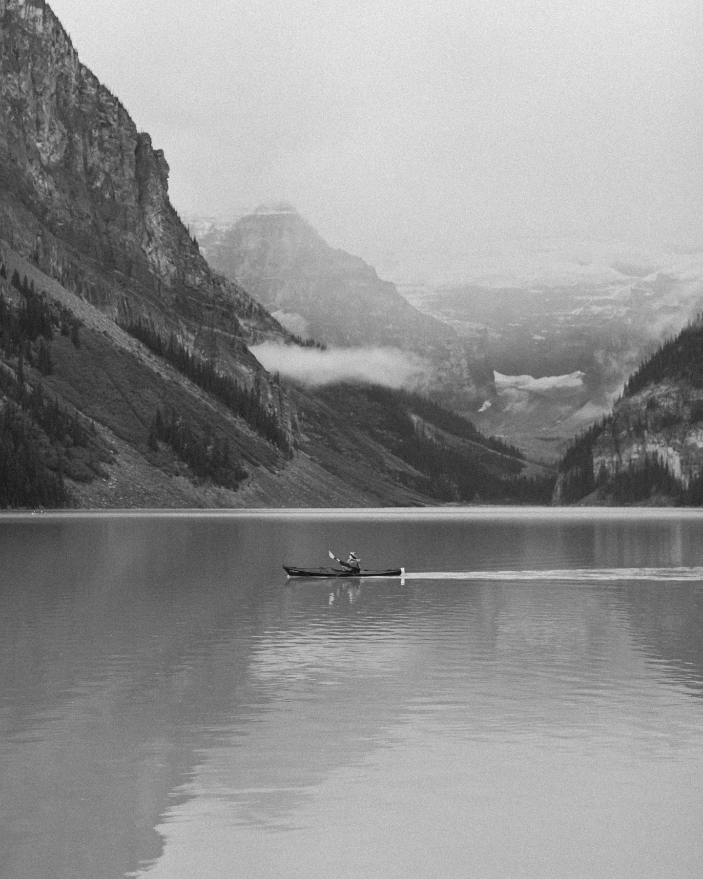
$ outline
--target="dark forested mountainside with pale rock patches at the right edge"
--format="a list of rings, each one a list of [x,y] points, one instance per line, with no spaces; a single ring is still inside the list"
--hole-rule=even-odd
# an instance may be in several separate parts
[[[703,504],[703,316],[641,364],[559,470],[557,503]]]

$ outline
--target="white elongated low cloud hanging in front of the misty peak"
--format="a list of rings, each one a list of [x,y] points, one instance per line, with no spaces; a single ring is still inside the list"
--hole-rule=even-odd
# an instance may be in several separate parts
[[[308,385],[358,381],[389,388],[417,388],[424,384],[431,367],[416,354],[398,348],[301,348],[265,342],[253,345],[251,353],[270,373]]]

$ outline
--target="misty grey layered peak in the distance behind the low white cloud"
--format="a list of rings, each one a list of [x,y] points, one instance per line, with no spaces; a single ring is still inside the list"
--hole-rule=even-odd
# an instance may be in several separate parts
[[[413,308],[363,259],[331,247],[294,207],[259,207],[231,224],[195,218],[191,228],[214,269],[301,337],[417,353],[432,367],[424,389],[460,410],[475,408],[480,388],[491,383],[475,345]]]

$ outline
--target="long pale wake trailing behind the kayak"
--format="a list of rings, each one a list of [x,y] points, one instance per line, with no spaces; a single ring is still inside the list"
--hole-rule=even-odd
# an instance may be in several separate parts
[[[561,570],[425,570],[406,571],[404,580],[559,580],[592,583],[609,580],[701,582],[703,568],[563,568]]]

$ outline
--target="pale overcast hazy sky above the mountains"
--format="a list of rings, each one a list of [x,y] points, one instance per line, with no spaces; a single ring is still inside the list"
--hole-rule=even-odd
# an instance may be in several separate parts
[[[51,0],[181,214],[330,243],[703,245],[700,0]]]

